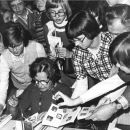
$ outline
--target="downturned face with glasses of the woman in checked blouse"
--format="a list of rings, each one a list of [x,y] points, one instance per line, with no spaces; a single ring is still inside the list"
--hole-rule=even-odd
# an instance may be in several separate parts
[[[85,35],[80,35],[73,39],[76,46],[80,46],[83,49],[91,47],[92,40],[88,39]]]

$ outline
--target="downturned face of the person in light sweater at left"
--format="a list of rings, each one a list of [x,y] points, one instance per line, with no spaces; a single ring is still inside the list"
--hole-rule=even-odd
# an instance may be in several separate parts
[[[13,55],[20,56],[23,53],[24,44],[23,42],[13,43],[8,47],[8,49]]]

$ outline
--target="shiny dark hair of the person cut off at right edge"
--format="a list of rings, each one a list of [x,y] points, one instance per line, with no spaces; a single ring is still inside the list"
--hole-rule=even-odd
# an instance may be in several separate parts
[[[109,55],[113,64],[130,68],[130,32],[118,35],[110,45]]]

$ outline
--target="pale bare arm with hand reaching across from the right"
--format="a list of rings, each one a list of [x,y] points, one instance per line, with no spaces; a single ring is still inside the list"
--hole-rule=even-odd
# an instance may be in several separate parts
[[[62,104],[59,104],[60,106],[63,105],[74,106],[88,102],[94,98],[106,94],[107,92],[118,88],[122,84],[124,84],[124,81],[121,80],[118,75],[114,75],[111,78],[99,82],[98,84],[93,86],[91,89],[87,90],[84,94],[82,94],[76,99],[70,99],[62,93],[57,93],[56,96],[58,96],[58,98],[59,97],[63,98],[64,100]]]

